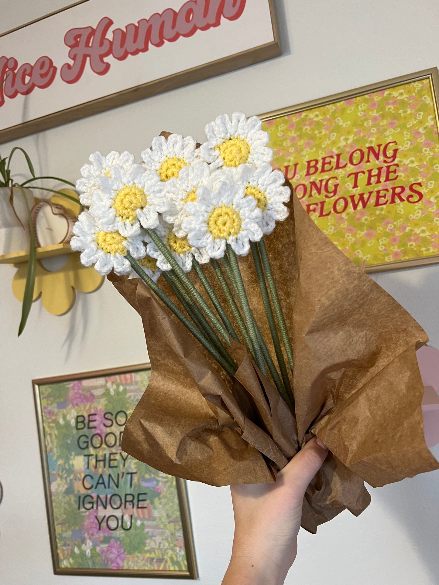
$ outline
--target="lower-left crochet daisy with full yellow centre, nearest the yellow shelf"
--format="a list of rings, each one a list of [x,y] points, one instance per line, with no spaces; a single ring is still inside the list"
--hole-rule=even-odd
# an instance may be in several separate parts
[[[73,226],[74,237],[70,240],[72,250],[81,252],[84,266],[95,265],[99,274],[129,274],[131,264],[126,259],[129,253],[133,258],[145,256],[146,250],[140,236],[124,237],[118,231],[104,232],[88,211],[83,211]]]

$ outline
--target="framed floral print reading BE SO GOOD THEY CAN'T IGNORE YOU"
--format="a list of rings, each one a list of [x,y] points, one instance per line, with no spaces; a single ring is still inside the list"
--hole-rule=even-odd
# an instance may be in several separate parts
[[[149,364],[33,380],[55,574],[196,579],[186,486],[121,449]]]

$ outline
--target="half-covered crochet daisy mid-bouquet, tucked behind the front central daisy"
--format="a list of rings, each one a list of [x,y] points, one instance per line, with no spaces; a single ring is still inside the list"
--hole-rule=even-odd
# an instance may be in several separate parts
[[[163,213],[163,218],[168,223],[173,223],[174,233],[179,238],[186,236],[181,228],[181,222],[186,214],[184,205],[189,201],[197,201],[197,191],[202,187],[215,188],[224,181],[224,173],[221,169],[212,172],[210,166],[205,163],[197,163],[181,169],[179,178],[169,181],[169,190],[166,198],[168,209]]]

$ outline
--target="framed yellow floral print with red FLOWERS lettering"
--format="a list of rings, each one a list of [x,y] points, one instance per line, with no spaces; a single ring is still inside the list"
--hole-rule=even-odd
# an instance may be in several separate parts
[[[260,116],[273,164],[366,272],[439,262],[437,68]]]

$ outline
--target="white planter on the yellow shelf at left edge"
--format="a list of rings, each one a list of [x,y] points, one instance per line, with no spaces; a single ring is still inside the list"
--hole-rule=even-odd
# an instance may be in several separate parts
[[[32,209],[35,205],[33,193],[29,189],[25,189],[25,194],[28,199],[29,209]],[[11,189],[8,187],[0,188],[0,256],[29,250],[29,219],[22,191],[14,188],[13,207],[25,229],[22,228],[16,218],[9,203],[9,197],[11,197]]]

